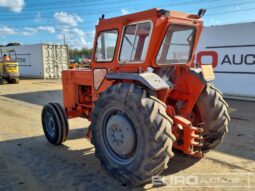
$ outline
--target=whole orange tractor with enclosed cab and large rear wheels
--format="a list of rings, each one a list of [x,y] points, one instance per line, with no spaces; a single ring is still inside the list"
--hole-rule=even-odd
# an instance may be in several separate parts
[[[63,143],[67,119],[87,118],[102,165],[133,185],[166,169],[173,148],[194,157],[215,148],[230,117],[211,83],[212,66],[194,64],[204,13],[151,9],[102,16],[90,68],[63,71],[64,108],[43,108],[47,140]]]

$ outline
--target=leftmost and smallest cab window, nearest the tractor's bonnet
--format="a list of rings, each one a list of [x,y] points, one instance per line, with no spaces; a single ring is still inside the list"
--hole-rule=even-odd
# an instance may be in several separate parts
[[[118,38],[117,30],[102,31],[97,37],[96,62],[111,62]]]

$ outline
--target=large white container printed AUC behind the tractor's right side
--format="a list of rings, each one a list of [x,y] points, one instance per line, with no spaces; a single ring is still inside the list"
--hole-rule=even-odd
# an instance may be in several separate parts
[[[218,55],[215,84],[227,96],[255,98],[255,23],[205,27],[198,51]],[[211,63],[212,57],[202,62]]]

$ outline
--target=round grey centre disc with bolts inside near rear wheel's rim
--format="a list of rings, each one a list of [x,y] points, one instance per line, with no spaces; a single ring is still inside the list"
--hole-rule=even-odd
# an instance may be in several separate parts
[[[111,149],[119,157],[127,159],[132,156],[136,148],[135,127],[125,114],[117,113],[109,118],[106,138]]]

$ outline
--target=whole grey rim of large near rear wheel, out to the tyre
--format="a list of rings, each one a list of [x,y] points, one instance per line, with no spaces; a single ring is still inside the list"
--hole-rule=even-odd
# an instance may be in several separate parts
[[[138,148],[135,126],[128,115],[120,110],[111,110],[104,117],[104,140],[107,151],[120,164],[133,161]]]

